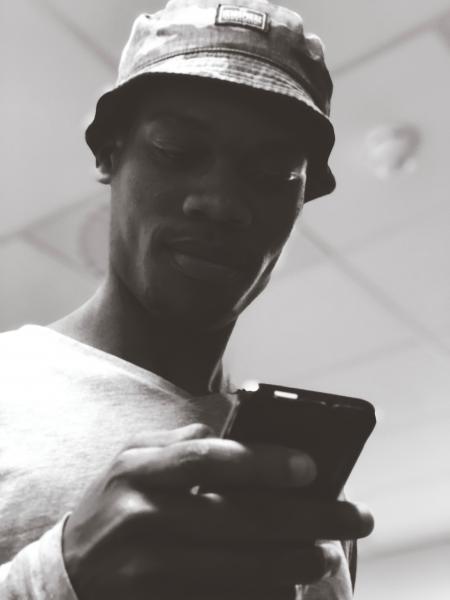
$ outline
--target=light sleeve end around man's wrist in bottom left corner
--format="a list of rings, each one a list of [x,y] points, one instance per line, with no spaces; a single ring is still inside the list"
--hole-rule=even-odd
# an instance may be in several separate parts
[[[0,565],[2,600],[78,600],[62,554],[62,531],[68,516]]]

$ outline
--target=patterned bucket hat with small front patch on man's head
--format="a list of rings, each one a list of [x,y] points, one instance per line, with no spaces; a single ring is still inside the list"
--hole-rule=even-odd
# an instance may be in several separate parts
[[[170,0],[162,10],[140,15],[116,84],[100,97],[86,129],[94,154],[114,129],[124,99],[142,89],[136,83],[157,85],[161,74],[217,79],[297,102],[311,138],[305,201],[334,190],[328,166],[335,140],[329,118],[333,84],[323,44],[305,33],[299,14],[267,0]]]

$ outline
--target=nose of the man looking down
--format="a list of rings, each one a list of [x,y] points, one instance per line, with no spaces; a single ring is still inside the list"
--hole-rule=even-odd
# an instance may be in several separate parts
[[[252,222],[252,213],[245,201],[243,187],[235,173],[216,165],[186,196],[183,212],[194,219],[248,227]]]

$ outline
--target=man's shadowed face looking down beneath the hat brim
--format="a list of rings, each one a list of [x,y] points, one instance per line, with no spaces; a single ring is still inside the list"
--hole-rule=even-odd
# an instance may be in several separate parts
[[[151,314],[211,330],[266,286],[303,204],[305,140],[283,99],[154,85],[111,167],[111,266]]]

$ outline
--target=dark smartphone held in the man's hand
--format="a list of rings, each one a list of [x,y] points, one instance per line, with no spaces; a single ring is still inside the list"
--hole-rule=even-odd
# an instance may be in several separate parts
[[[237,392],[223,437],[308,453],[317,477],[301,489],[302,497],[335,500],[375,423],[367,400],[261,383]]]

